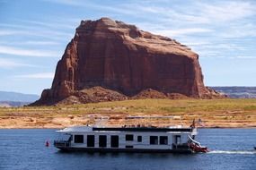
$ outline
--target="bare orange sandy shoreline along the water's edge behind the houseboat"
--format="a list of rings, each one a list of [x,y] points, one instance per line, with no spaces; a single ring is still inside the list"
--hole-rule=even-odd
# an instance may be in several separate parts
[[[93,119],[93,121],[88,118],[90,115],[62,115],[62,116],[0,116],[0,129],[63,129],[70,126],[84,126],[87,124],[96,124],[97,121]],[[93,115],[93,116],[110,116],[109,122],[104,123],[104,126],[123,126],[123,125],[137,125],[143,124],[145,126],[169,126],[171,125],[182,125],[183,127],[190,127],[190,124],[193,119],[185,119],[182,120],[174,120],[170,121],[162,121],[155,120],[151,122],[147,122],[147,120],[143,120],[137,122],[132,119],[130,121],[125,121],[125,117],[127,115]],[[154,116],[162,116],[162,115],[154,115]],[[164,116],[164,115],[163,115]],[[200,116],[202,118],[202,116]],[[202,118],[203,125],[197,125],[198,128],[204,129],[253,129],[256,128],[256,122],[246,122],[246,121],[225,121],[225,120],[207,120],[205,117]],[[197,122],[197,119],[196,119]]]

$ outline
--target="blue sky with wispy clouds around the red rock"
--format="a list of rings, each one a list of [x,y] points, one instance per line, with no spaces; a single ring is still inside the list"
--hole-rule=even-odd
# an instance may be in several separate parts
[[[207,86],[256,86],[256,1],[0,0],[0,90],[50,88],[80,21],[102,17],[189,46]]]

